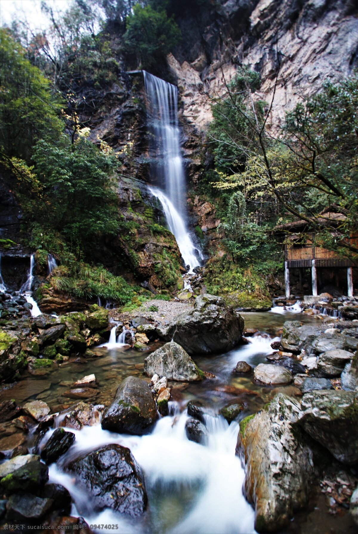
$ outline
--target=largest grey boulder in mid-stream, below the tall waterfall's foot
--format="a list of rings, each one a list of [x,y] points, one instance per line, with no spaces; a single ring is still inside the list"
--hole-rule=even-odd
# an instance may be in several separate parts
[[[214,295],[199,295],[194,307],[157,328],[165,341],[175,341],[188,354],[212,354],[234,348],[242,337],[244,319]]]

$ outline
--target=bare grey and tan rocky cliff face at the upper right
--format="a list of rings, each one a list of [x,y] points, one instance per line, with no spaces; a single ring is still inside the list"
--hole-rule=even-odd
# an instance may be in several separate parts
[[[355,0],[228,0],[179,21],[183,43],[169,54],[183,117],[199,130],[212,119],[211,99],[238,65],[261,74],[257,98],[270,101],[279,66],[273,120],[302,98],[358,65]]]

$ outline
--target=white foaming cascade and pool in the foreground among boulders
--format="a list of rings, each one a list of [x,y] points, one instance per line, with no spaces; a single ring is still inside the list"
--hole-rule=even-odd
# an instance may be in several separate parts
[[[170,534],[250,534],[254,532],[254,512],[246,502],[242,485],[244,469],[237,456],[235,446],[239,425],[229,426],[222,417],[212,417],[207,421],[208,444],[199,445],[189,441],[185,434],[186,412],[167,416],[157,422],[151,434],[129,436],[113,434],[98,426],[71,430],[76,439],[67,453],[67,458],[75,458],[81,452],[95,450],[109,443],[129,447],[145,475],[145,484],[151,498],[165,495],[170,504],[170,496],[180,492],[183,486],[192,492],[189,506],[178,507],[174,511],[168,506],[154,514],[146,512],[136,521],[105,509],[94,513],[90,500],[74,478],[61,469],[50,466],[50,482],[63,484],[75,502],[72,513],[83,515],[89,523],[116,523],[122,534],[168,532]],[[160,497],[159,497],[160,498]],[[151,514],[148,517],[148,514]],[[161,524],[161,522],[163,524]],[[150,524],[148,524],[150,523]]]

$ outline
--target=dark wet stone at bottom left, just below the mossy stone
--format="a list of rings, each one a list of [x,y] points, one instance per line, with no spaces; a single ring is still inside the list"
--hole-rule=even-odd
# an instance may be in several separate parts
[[[6,503],[6,520],[25,522],[40,519],[52,506],[52,499],[42,499],[24,492],[14,493]]]

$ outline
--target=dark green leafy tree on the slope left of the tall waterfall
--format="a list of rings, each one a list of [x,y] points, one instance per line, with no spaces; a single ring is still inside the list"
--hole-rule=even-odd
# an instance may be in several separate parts
[[[43,198],[36,206],[30,199],[21,199],[29,221],[52,233],[61,232],[77,254],[89,242],[116,232],[116,197],[109,177],[115,161],[111,156],[84,138],[71,144],[63,136],[58,143],[39,141],[33,160]]]

